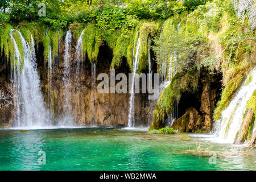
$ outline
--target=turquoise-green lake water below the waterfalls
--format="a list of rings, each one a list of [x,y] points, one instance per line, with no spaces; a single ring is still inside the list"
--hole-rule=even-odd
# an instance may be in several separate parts
[[[0,130],[0,170],[255,170],[255,148],[206,139],[96,127]]]

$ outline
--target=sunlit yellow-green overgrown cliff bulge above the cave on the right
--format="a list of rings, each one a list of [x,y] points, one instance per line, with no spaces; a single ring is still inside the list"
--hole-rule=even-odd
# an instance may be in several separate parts
[[[221,111],[228,106],[247,74],[256,65],[255,24],[250,22],[253,19],[252,10],[247,11],[247,14],[243,12],[243,16],[239,15],[242,10],[234,9],[234,3],[237,2],[210,1],[189,14],[171,16],[161,36],[155,40],[154,51],[159,64],[168,64],[171,54],[178,53],[175,67],[180,73],[193,69],[200,71],[202,68],[207,68],[213,75],[222,72],[223,90],[214,110],[215,121],[220,119]],[[181,22],[179,31],[176,30],[177,22]],[[166,125],[165,120],[174,109],[174,101],[180,100],[183,90],[195,92],[196,88],[190,84],[175,89],[177,76],[163,90],[150,130]],[[189,80],[187,74],[178,77],[180,80]],[[182,83],[179,81],[179,84]],[[191,84],[194,83],[197,85],[196,76],[192,76]],[[255,102],[249,103],[255,106]]]

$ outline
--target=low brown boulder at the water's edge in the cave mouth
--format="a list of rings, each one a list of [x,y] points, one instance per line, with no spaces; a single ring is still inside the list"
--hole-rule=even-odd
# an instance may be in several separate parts
[[[202,117],[198,114],[197,110],[190,107],[182,117],[172,124],[172,128],[180,132],[195,132],[200,129],[201,120]]]

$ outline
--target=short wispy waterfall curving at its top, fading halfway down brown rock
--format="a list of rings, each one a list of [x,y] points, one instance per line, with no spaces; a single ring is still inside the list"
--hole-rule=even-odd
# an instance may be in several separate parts
[[[77,43],[76,43],[76,53],[75,53],[75,56],[76,56],[76,63],[77,63],[77,66],[76,66],[76,79],[77,81],[79,82],[79,75],[80,75],[80,72],[81,72],[81,75],[82,75],[82,61],[84,60],[84,56],[82,54],[82,49],[83,49],[83,40],[82,40],[82,35],[84,35],[84,31],[85,29],[81,32],[81,35],[79,37],[79,39],[77,40]],[[81,63],[81,67],[80,67],[80,63]]]

